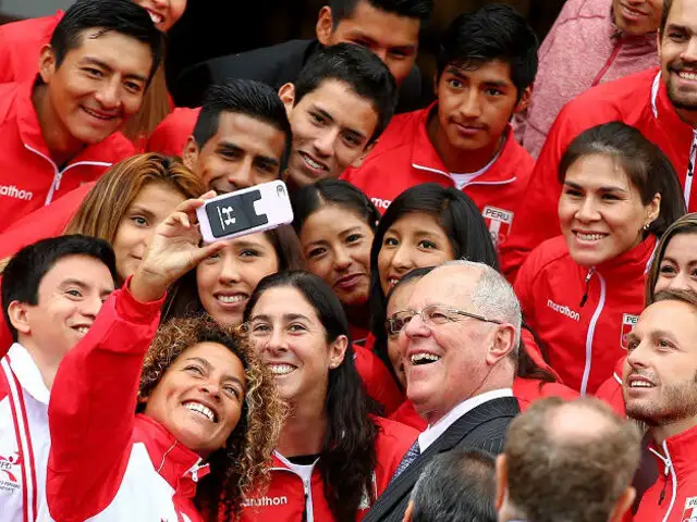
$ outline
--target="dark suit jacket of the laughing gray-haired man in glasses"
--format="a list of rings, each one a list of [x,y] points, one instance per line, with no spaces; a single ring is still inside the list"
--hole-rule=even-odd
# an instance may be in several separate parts
[[[489,400],[457,419],[380,495],[363,522],[401,522],[414,484],[438,453],[453,448],[503,451],[509,424],[521,412],[514,397]]]

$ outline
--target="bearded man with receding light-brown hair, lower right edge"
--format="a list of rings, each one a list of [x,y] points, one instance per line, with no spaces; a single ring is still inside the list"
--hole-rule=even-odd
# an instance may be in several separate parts
[[[665,290],[628,335],[627,415],[649,427],[657,473],[634,522],[697,520],[697,295]]]

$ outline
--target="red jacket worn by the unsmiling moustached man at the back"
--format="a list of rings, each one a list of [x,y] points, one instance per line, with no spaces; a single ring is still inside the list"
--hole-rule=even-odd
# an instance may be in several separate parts
[[[428,115],[435,109],[432,104],[394,116],[363,165],[347,169],[341,176],[363,190],[380,212],[415,185],[438,183],[444,187],[456,186],[426,130]],[[499,158],[463,188],[481,211],[497,246],[503,244],[509,235],[534,164],[530,154],[513,138],[509,127]]]

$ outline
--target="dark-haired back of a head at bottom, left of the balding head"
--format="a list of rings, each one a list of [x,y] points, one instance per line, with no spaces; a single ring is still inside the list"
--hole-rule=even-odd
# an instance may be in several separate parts
[[[412,493],[412,522],[496,522],[496,460],[454,449],[433,458]]]

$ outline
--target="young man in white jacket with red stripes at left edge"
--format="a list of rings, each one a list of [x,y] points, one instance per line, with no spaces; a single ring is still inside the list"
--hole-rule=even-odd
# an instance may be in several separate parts
[[[14,344],[9,351],[0,347],[2,522],[37,520],[46,497],[53,378],[91,327],[115,277],[111,247],[85,236],[28,246],[4,271],[2,312]]]

